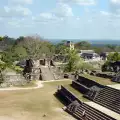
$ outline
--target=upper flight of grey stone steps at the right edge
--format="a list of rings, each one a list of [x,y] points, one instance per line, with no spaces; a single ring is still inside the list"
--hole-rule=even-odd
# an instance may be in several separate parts
[[[120,114],[120,90],[106,86],[93,101]]]

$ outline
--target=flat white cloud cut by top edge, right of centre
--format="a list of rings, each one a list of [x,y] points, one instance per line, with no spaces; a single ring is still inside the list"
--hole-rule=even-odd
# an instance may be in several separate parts
[[[59,0],[60,2],[65,3],[75,3],[78,5],[95,5],[96,0]]]

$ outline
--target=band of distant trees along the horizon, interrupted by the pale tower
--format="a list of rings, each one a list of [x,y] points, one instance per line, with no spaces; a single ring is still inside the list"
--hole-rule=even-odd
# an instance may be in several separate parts
[[[19,38],[16,39],[11,38],[9,36],[3,36],[0,37],[0,54],[1,54],[0,56],[1,56],[1,60],[4,62],[14,62],[26,58],[52,57],[54,54],[65,53],[66,42],[67,40],[61,40],[61,41],[45,40],[37,35],[26,36],[26,37],[20,36]],[[102,44],[99,44],[99,42],[100,41],[98,41],[98,44],[96,43],[93,44],[92,41],[89,42],[89,41],[80,40],[78,42],[75,42],[75,49],[77,51],[92,49],[95,50],[95,52],[97,53],[120,52],[119,45],[112,45],[111,44],[112,42],[106,44],[105,41]]]

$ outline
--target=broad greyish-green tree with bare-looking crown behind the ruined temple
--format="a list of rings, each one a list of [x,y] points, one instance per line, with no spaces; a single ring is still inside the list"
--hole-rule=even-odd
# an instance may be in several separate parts
[[[52,56],[54,51],[54,45],[48,41],[41,40],[38,36],[20,36],[12,47],[4,52],[2,60],[10,63],[30,57],[40,58],[42,54]]]

